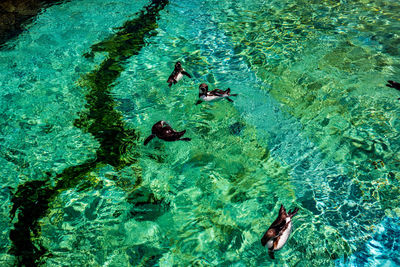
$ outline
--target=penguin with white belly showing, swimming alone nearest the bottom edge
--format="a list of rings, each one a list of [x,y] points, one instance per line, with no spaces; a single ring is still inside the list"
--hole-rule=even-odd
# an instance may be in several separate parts
[[[268,246],[268,255],[271,259],[275,259],[274,251],[280,250],[289,238],[292,231],[292,217],[296,215],[299,208],[286,213],[285,208],[281,205],[278,218],[271,224],[267,232],[261,238],[261,244]]]

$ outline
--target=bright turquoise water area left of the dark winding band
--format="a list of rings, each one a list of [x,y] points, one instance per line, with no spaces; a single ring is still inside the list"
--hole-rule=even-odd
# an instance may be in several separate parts
[[[0,177],[9,177],[2,184],[16,187],[20,179],[40,179],[45,171],[59,173],[93,158],[96,141],[73,127],[77,111],[85,105],[85,92],[76,81],[102,56],[90,62],[82,54],[145,3],[86,1],[53,6],[13,40],[14,49],[0,52],[0,154],[5,166]],[[110,7],[115,13],[106,12]]]

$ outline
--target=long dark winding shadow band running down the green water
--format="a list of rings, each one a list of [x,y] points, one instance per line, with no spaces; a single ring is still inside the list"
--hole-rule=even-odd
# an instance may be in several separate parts
[[[134,157],[125,159],[126,143],[137,140],[133,129],[126,129],[122,115],[115,110],[116,103],[110,91],[114,81],[124,70],[125,61],[137,55],[145,46],[145,38],[155,36],[158,13],[168,4],[168,0],[153,0],[145,6],[137,17],[125,22],[118,32],[110,38],[92,46],[92,51],[85,54],[87,58],[94,53],[104,51],[108,58],[97,70],[85,75],[80,81],[88,89],[86,110],[79,114],[74,125],[91,133],[100,143],[96,159],[65,169],[56,175],[51,182],[51,174],[43,181],[28,181],[18,186],[12,197],[13,207],[10,217],[14,228],[10,231],[12,247],[10,254],[16,256],[19,266],[37,266],[42,263],[43,255],[51,256],[41,244],[39,219],[46,215],[50,203],[62,191],[74,188],[87,174],[103,165],[111,165],[116,170],[135,164]],[[125,149],[121,149],[125,148]],[[134,148],[130,146],[130,148]],[[141,182],[139,168],[133,167],[137,179],[134,188]]]

